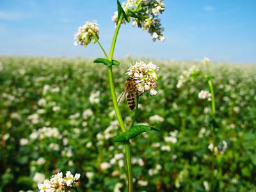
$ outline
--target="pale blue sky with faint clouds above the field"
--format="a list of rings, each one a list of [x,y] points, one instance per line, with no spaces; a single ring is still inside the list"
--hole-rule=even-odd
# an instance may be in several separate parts
[[[256,63],[255,0],[165,0],[165,42],[123,26],[115,56]],[[0,55],[102,56],[97,45],[73,46],[86,20],[98,20],[100,42],[109,49],[115,0],[0,0]]]

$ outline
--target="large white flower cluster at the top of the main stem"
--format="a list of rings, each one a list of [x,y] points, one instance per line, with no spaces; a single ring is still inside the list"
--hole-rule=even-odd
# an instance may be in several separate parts
[[[129,2],[129,5],[127,5]],[[158,18],[160,13],[164,12],[165,4],[163,0],[128,0],[123,3],[123,7],[128,8],[136,17],[132,19],[132,26],[143,28],[152,35],[153,41],[164,41],[163,31],[161,28],[161,20]],[[114,13],[112,17],[113,22],[118,22],[118,12]],[[125,23],[124,20],[122,20]]]

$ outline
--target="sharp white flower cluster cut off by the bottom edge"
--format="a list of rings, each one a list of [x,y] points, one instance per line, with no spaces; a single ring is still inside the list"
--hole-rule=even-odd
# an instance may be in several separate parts
[[[42,184],[38,184],[38,189],[40,192],[70,191],[80,184],[80,176],[79,173],[74,176],[71,172],[67,172],[66,177],[63,177],[63,173],[60,172],[52,175],[50,180],[46,179]]]

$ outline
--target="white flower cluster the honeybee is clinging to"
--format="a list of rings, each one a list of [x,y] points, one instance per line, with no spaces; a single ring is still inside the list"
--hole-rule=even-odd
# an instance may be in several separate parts
[[[143,95],[144,92],[149,92],[150,95],[156,95],[155,90],[157,84],[157,72],[159,67],[152,63],[145,63],[143,61],[131,64],[128,68],[127,75],[136,79],[135,86],[139,95]]]

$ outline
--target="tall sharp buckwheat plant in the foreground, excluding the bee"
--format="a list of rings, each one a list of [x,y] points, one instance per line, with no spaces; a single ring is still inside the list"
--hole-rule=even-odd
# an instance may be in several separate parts
[[[164,12],[165,4],[163,0],[127,0],[124,3],[117,1],[117,11],[114,13],[112,20],[115,23],[115,33],[111,44],[109,55],[106,53],[104,47],[99,42],[99,28],[97,22],[85,22],[85,24],[78,28],[75,36],[74,45],[84,45],[86,47],[90,42],[99,44],[106,58],[98,58],[94,62],[102,63],[108,67],[108,80],[111,97],[113,100],[113,108],[115,108],[116,118],[122,130],[122,133],[114,138],[114,141],[124,143],[125,157],[127,166],[127,183],[128,191],[133,191],[132,186],[132,163],[131,163],[131,146],[130,140],[145,131],[155,130],[153,127],[146,125],[134,125],[136,116],[138,114],[138,99],[143,93],[148,92],[150,95],[156,95],[156,81],[157,72],[159,68],[154,63],[145,63],[143,61],[132,63],[127,70],[126,75],[132,81],[135,92],[136,106],[134,111],[134,119],[132,124],[127,129],[125,127],[122,115],[118,108],[118,100],[116,99],[115,84],[112,68],[120,65],[119,61],[113,60],[115,51],[116,39],[122,24],[132,22],[132,26],[142,28],[148,31],[152,36],[152,40],[164,41],[163,28],[161,27],[161,20],[159,15]],[[131,96],[132,99],[133,96]],[[131,104],[131,102],[130,102]]]

